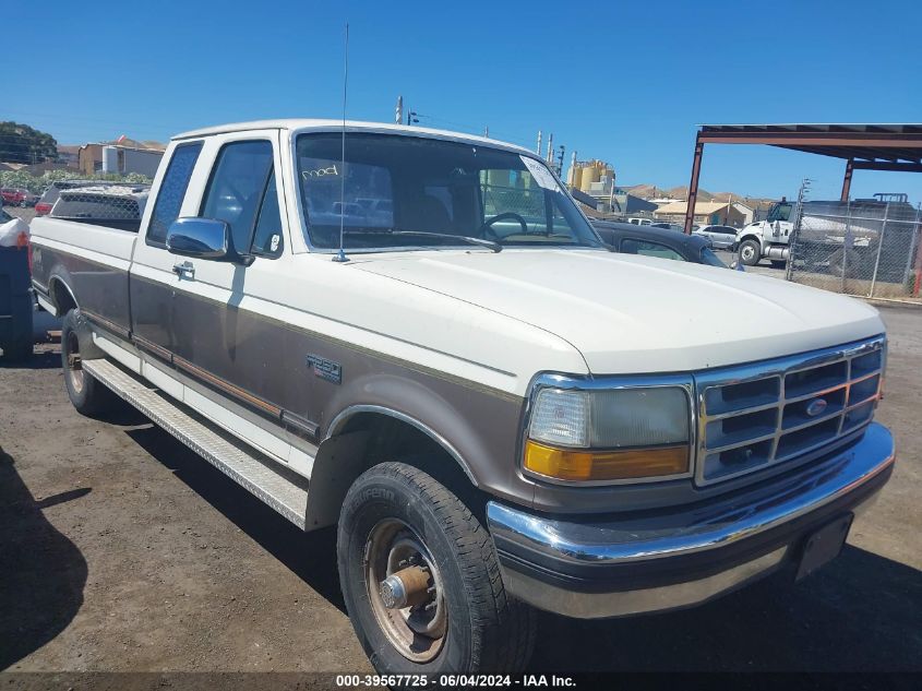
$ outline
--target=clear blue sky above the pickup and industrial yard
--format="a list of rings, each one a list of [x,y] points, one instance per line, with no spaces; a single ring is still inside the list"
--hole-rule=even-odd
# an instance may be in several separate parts
[[[167,140],[206,124],[339,117],[343,24],[349,117],[534,146],[539,129],[621,184],[687,184],[695,126],[920,122],[922,3],[816,2],[72,2],[4,29],[0,119],[60,143]],[[14,48],[11,50],[11,48]],[[22,69],[16,69],[21,62]],[[547,140],[546,140],[547,141]],[[710,191],[837,198],[843,163],[710,146]],[[859,171],[852,193],[922,176]]]

